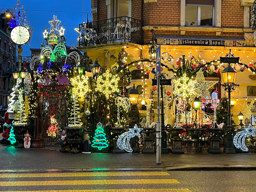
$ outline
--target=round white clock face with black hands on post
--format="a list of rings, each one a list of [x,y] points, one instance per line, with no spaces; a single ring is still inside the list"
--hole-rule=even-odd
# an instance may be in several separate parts
[[[14,43],[18,45],[24,45],[29,41],[29,38],[29,31],[25,27],[17,26],[12,29],[11,39]]]

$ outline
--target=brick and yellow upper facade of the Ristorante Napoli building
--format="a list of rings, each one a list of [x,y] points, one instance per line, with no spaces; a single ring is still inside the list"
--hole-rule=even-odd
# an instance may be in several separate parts
[[[107,67],[115,64],[122,48],[128,53],[127,63],[149,58],[153,29],[154,41],[174,61],[181,55],[212,61],[232,49],[242,63],[255,66],[254,7],[254,0],[91,0],[93,22],[87,30],[88,40],[79,40],[79,49],[92,59],[101,58],[99,64]],[[141,26],[136,25],[139,21]],[[200,40],[223,43],[193,43]],[[171,62],[166,64],[172,66]],[[241,105],[232,108],[234,116],[247,104],[247,87],[255,85],[250,75],[253,74],[248,70],[237,74],[236,83],[240,87],[232,97],[238,98]],[[149,84],[152,78],[150,74]],[[218,88],[220,97],[225,96],[226,92]]]

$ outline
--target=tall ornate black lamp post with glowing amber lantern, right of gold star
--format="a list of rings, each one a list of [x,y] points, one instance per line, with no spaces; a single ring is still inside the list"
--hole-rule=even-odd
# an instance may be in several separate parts
[[[223,72],[222,72],[223,82],[222,87],[225,91],[228,92],[228,111],[227,111],[227,139],[226,139],[226,148],[224,148],[225,153],[235,153],[235,148],[233,145],[233,134],[231,131],[231,112],[230,112],[230,93],[235,90],[236,86],[239,86],[235,84],[236,79],[236,72],[235,70],[230,66],[227,66]]]

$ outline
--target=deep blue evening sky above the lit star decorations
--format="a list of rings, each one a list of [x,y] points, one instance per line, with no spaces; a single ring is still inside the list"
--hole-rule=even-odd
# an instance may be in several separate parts
[[[40,48],[41,41],[44,42],[43,32],[46,27],[50,28],[48,21],[53,19],[53,15],[57,15],[57,19],[61,20],[61,24],[65,29],[65,38],[67,45],[77,40],[78,32],[74,28],[79,27],[82,20],[82,0],[20,0],[20,4],[24,6],[27,13],[27,19],[34,29],[30,43],[23,45],[22,56],[30,56],[30,48]],[[1,0],[0,8],[14,9],[17,0]],[[40,10],[40,11],[30,11]],[[74,13],[75,12],[75,13]],[[79,13],[78,13],[79,12]],[[84,21],[87,21],[87,13],[91,12],[91,1],[84,0]],[[49,31],[49,30],[48,30]],[[75,46],[73,43],[71,46]]]

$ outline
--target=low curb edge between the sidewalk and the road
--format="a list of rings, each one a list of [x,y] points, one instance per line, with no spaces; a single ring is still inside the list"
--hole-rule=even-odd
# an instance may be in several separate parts
[[[256,171],[256,165],[177,165],[142,168],[1,169],[0,173],[108,171]]]

